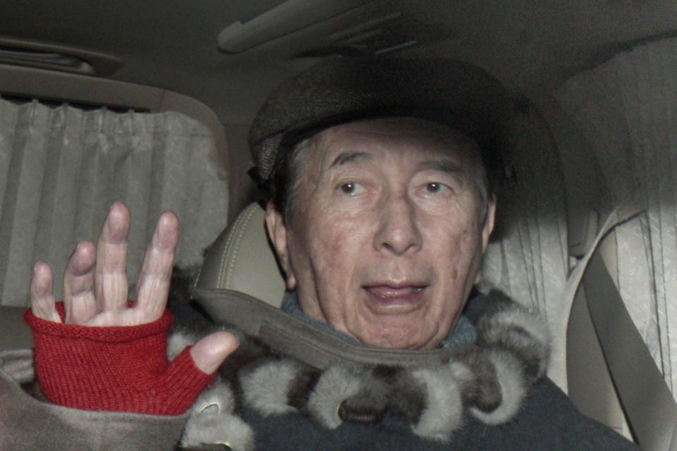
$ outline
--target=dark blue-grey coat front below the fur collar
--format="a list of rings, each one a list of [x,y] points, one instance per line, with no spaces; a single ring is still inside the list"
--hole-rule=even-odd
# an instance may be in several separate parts
[[[583,416],[554,383],[536,383],[513,421],[487,426],[465,416],[465,426],[449,443],[423,440],[406,424],[384,421],[365,425],[343,423],[331,431],[299,414],[262,418],[243,415],[256,433],[257,450],[639,450],[611,429]]]

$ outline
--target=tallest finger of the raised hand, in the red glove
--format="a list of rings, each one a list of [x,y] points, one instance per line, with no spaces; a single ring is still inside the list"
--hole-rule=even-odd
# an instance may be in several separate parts
[[[116,202],[108,213],[97,247],[94,287],[98,311],[119,311],[127,307],[129,229],[129,209],[125,204]]]

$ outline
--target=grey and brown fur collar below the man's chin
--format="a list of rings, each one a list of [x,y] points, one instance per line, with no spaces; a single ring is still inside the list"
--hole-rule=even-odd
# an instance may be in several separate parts
[[[442,442],[462,426],[464,412],[488,425],[511,421],[547,369],[549,330],[537,314],[499,291],[481,295],[473,306],[468,316],[477,345],[457,347],[452,359],[435,366],[341,365],[318,371],[288,357],[259,355],[202,394],[182,445],[253,449],[253,433],[237,416],[238,404],[263,416],[305,414],[327,428],[378,421],[389,412],[403,417],[416,435]],[[193,340],[178,334],[172,341],[178,348]]]

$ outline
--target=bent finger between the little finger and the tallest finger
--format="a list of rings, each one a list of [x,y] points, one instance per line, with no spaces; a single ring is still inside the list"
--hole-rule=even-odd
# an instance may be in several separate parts
[[[97,301],[94,298],[96,255],[96,247],[91,242],[83,241],[68,260],[63,276],[63,304],[68,324],[84,324],[97,314]]]

